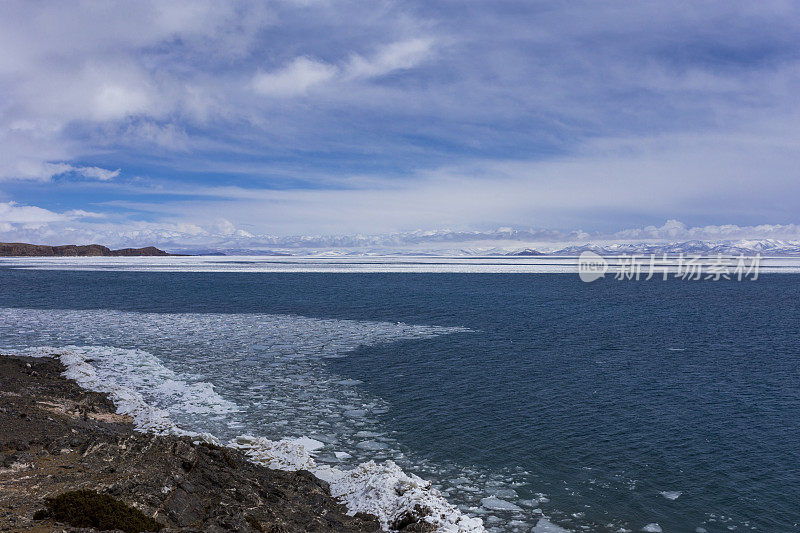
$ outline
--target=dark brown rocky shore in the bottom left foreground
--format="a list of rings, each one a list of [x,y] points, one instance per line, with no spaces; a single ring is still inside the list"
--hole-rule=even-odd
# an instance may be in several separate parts
[[[237,450],[134,431],[110,399],[63,371],[53,358],[0,356],[0,531],[146,530],[87,528],[104,523],[91,516],[63,522],[68,514],[54,499],[81,489],[84,500],[95,498],[81,502],[82,513],[116,505],[165,532],[380,531],[373,516],[348,516],[309,472],[272,470]],[[430,528],[417,522],[404,530]]]

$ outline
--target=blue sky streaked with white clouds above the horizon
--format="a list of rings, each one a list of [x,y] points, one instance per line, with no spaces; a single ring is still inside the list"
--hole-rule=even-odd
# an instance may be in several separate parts
[[[798,42],[791,1],[6,0],[0,241],[800,239]]]

